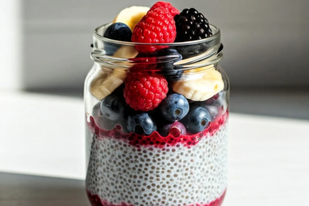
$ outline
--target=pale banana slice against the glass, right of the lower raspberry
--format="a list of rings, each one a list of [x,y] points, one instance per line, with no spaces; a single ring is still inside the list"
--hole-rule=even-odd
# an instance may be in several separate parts
[[[205,101],[223,90],[222,75],[217,70],[205,72],[198,79],[175,82],[173,90],[193,101]]]

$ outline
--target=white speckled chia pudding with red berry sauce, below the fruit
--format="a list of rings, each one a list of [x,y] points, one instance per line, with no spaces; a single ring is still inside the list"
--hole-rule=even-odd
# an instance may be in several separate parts
[[[86,189],[94,206],[219,206],[227,186],[228,111],[192,136],[122,134],[87,122]],[[146,139],[146,141],[145,141]]]

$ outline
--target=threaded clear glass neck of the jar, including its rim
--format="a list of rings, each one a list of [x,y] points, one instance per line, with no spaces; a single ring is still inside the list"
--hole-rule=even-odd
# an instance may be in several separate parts
[[[222,58],[220,47],[220,30],[212,27],[214,35],[192,42],[171,44],[138,44],[110,40],[101,36],[109,24],[98,27],[93,36],[91,58],[106,71],[130,68],[147,69],[152,72],[159,70],[184,71],[214,65]],[[154,53],[139,53],[137,47],[155,46]]]

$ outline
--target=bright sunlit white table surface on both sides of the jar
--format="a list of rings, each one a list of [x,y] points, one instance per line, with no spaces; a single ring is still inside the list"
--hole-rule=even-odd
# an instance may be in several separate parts
[[[85,178],[78,98],[0,93],[0,171]],[[230,114],[223,205],[309,205],[309,121]]]

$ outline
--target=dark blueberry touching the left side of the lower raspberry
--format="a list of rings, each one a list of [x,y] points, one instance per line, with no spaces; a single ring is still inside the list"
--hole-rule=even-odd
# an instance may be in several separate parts
[[[116,121],[123,117],[125,103],[121,95],[108,95],[101,102],[101,111],[104,117]]]

